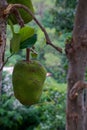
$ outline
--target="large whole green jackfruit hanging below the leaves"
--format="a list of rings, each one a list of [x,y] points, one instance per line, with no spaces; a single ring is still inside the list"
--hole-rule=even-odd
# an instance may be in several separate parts
[[[12,74],[15,97],[24,105],[33,105],[41,97],[46,70],[38,61],[19,61]]]

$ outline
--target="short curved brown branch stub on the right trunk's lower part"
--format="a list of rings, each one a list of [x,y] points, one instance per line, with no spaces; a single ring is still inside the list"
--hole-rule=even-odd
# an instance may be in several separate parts
[[[74,100],[78,96],[80,90],[84,88],[87,88],[87,83],[85,83],[84,81],[76,82],[73,88],[70,90],[70,93],[69,93],[70,99]]]

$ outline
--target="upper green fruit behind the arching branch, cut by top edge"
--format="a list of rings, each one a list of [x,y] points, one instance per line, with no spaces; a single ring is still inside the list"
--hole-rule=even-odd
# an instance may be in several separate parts
[[[27,6],[32,13],[34,13],[34,8],[32,5],[31,0],[7,0],[9,4],[23,4]],[[32,20],[32,16],[29,15],[24,9],[18,9],[22,19],[24,20],[24,23],[28,23]],[[13,24],[17,24],[17,20],[15,19],[14,15],[10,15],[9,18],[11,19]]]

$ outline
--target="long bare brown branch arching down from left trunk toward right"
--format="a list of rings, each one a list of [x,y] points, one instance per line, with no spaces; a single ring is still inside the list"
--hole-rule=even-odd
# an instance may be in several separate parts
[[[22,4],[9,4],[8,7],[5,9],[4,14],[5,15],[9,14],[11,12],[11,10],[14,10],[14,8],[23,8],[27,13],[29,13],[32,16],[33,20],[36,22],[36,24],[44,32],[44,35],[45,35],[45,38],[46,38],[46,44],[52,46],[57,51],[62,53],[62,49],[60,47],[57,47],[57,46],[52,44],[52,42],[51,42],[45,28],[40,24],[40,22],[37,20],[37,18],[34,16],[34,14],[31,12],[31,10],[28,7],[26,7],[25,5],[22,5]]]

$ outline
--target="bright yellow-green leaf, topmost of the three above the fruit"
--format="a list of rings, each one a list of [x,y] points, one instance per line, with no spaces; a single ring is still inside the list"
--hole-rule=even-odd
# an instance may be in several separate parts
[[[35,30],[34,28],[27,26],[27,27],[21,28],[19,33],[21,35],[21,42],[23,42],[29,37],[33,36],[35,33]]]

